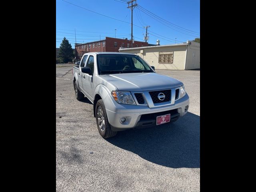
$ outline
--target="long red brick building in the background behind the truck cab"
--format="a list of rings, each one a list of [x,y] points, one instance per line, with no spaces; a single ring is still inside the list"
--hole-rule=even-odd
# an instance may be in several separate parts
[[[133,47],[148,46],[148,43],[134,41]],[[131,48],[131,41],[128,39],[118,39],[106,37],[104,40],[88,42],[75,45],[76,59],[81,60],[83,54],[88,52],[119,52],[120,47]]]

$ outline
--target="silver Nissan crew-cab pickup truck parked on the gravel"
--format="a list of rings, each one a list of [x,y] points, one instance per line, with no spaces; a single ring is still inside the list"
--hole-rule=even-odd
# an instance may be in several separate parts
[[[158,126],[188,112],[189,97],[177,79],[157,74],[135,54],[89,52],[73,67],[76,99],[93,104],[98,131],[110,138],[130,128]]]

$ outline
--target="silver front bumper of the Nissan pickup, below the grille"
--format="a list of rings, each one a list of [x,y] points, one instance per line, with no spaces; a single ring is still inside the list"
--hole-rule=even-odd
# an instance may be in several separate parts
[[[143,124],[144,126],[156,125],[156,118],[154,119],[152,115],[151,118],[140,120],[141,116],[145,114],[162,114],[161,112],[163,112],[162,115],[164,115],[164,112],[172,110],[173,114],[171,114],[171,122],[174,120],[172,119],[174,117],[176,118],[175,120],[177,120],[177,118],[184,116],[188,112],[188,110],[185,111],[185,107],[189,106],[189,96],[186,94],[181,99],[176,100],[172,105],[165,105],[154,108],[149,108],[148,106],[142,105],[118,104],[116,101],[114,101],[111,95],[104,99],[104,104],[106,107],[108,122],[110,123],[112,130],[119,131],[142,127]],[[120,122],[120,118],[122,117],[126,118],[125,123]]]

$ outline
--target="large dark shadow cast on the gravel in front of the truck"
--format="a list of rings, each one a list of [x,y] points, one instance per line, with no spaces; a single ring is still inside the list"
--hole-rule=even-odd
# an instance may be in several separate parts
[[[158,165],[200,168],[200,116],[190,112],[172,124],[121,131],[106,140]]]

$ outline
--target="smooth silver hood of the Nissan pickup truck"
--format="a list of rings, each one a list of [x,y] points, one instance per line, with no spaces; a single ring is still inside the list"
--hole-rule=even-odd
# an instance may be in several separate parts
[[[182,86],[183,83],[175,78],[157,73],[121,73],[101,75],[120,91],[148,91]]]

